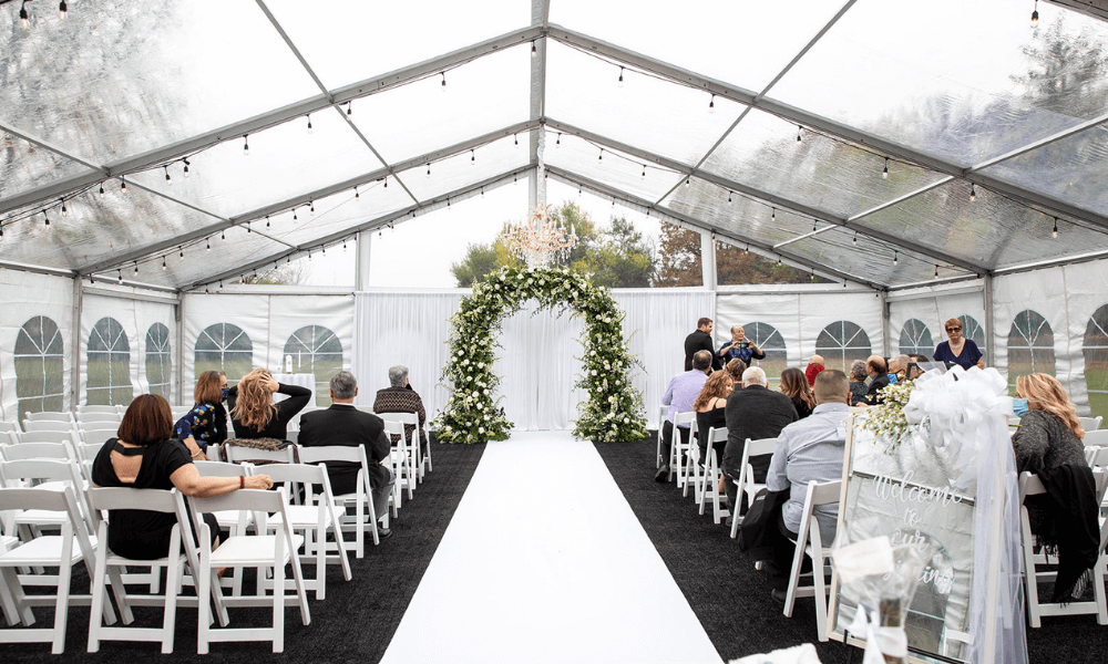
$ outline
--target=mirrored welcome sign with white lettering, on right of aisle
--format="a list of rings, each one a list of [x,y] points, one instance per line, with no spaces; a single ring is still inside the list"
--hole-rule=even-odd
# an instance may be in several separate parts
[[[838,532],[850,541],[888,536],[893,546],[938,543],[919,577],[905,619],[916,662],[964,662],[968,656],[973,588],[974,496],[951,487],[954,459],[915,435],[897,446],[852,421],[843,464]],[[840,535],[840,537],[842,537]],[[859,598],[833,579],[831,636],[845,637]]]

